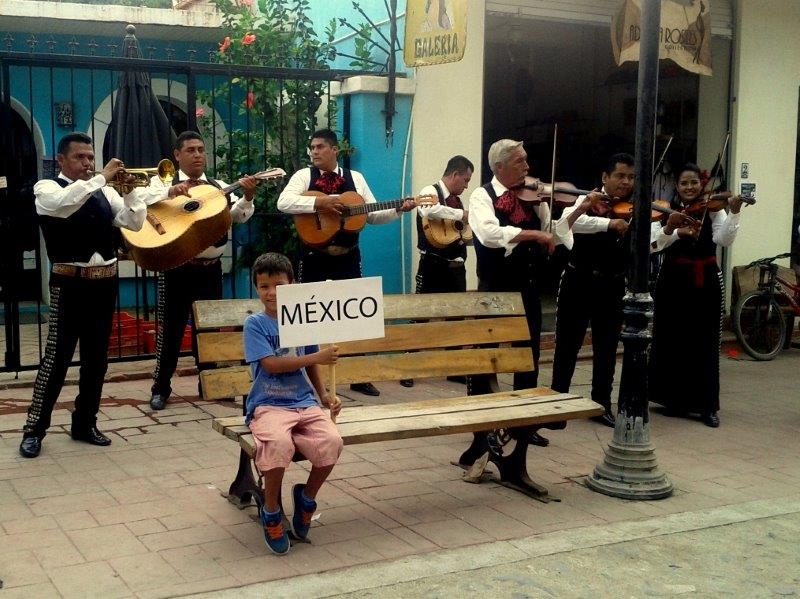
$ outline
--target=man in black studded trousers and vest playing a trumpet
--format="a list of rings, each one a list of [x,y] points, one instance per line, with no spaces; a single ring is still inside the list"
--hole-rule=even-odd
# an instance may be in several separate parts
[[[61,167],[58,177],[43,179],[33,188],[52,270],[47,345],[19,446],[26,458],[35,458],[42,449],[78,341],[81,369],[72,438],[92,445],[111,443],[97,430],[97,411],[117,297],[114,227],[138,231],[147,205],[176,191],[133,187],[121,196],[108,184],[132,185],[133,177],[125,175],[125,165],[117,158],[95,173],[92,139],[83,133],[63,137],[56,160]]]

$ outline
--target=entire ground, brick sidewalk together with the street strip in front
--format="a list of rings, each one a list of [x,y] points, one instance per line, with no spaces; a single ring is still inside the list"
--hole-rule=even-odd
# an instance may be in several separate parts
[[[99,425],[109,448],[69,439],[76,388],[65,387],[35,460],[17,454],[31,389],[0,390],[0,599],[798,594],[799,368],[796,350],[764,363],[723,356],[719,429],[653,410],[658,460],[675,485],[661,501],[585,487],[611,438],[592,422],[548,431],[550,446],[531,449],[532,477],[561,499],[549,504],[461,481],[449,462],[465,435],[346,448],[312,542],[285,557],[267,553],[252,508],[221,496],[237,447],[210,421],[241,408],[199,400],[196,376],[176,378],[158,413],[146,378],[107,383]],[[580,363],[573,390],[588,395],[590,376]],[[680,356],[675,376],[692,384]],[[380,403],[465,392],[440,380],[378,387]],[[345,409],[372,403],[339,391]],[[294,465],[286,489],[305,475]]]

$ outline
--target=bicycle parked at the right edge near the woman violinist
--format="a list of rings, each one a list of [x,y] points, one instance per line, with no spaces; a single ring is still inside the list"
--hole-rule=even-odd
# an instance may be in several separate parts
[[[761,258],[747,265],[747,268],[759,268],[758,288],[736,302],[733,329],[744,350],[756,360],[772,360],[786,345],[786,308],[778,299],[788,304],[794,316],[800,316],[800,286],[781,277],[775,264],[775,260],[791,255]],[[791,331],[788,334],[791,335]]]

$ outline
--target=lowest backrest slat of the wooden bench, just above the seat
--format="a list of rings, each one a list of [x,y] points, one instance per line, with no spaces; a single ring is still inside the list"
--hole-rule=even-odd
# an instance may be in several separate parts
[[[431,378],[498,372],[526,372],[533,369],[529,347],[495,347],[421,351],[405,354],[352,356],[339,360],[336,382],[341,385],[369,381]],[[247,395],[250,368],[232,366],[200,372],[203,399],[215,400]]]

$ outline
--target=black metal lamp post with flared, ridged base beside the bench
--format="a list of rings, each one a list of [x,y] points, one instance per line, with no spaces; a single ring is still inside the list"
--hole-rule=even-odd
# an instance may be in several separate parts
[[[658,99],[661,0],[642,0],[636,107],[636,185],[631,220],[631,260],[624,300],[622,380],[614,438],[589,475],[590,489],[624,499],[660,499],[672,494],[650,443],[647,347],[652,338],[653,299],[648,287],[653,139]]]

